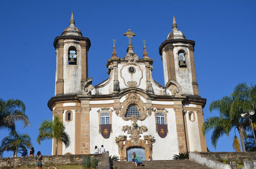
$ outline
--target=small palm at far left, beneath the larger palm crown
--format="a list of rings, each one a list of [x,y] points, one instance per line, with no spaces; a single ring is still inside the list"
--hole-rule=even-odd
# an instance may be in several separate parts
[[[9,136],[6,136],[1,141],[0,154],[4,151],[13,152],[13,157],[17,156],[17,152],[22,153],[27,147],[31,147],[31,138],[27,134],[11,131]]]

